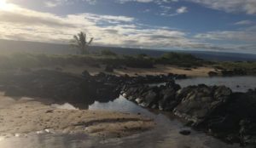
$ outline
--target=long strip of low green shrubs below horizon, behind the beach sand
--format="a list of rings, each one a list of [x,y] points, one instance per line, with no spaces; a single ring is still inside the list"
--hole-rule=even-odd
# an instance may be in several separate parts
[[[154,65],[173,65],[183,68],[212,66],[218,70],[242,70],[247,74],[256,74],[256,62],[211,62],[196,58],[191,54],[166,53],[160,57],[150,57],[147,54],[119,55],[110,50],[101,54],[10,54],[0,55],[0,69],[26,69],[44,66],[65,65],[112,65],[113,68],[134,67],[154,68]]]

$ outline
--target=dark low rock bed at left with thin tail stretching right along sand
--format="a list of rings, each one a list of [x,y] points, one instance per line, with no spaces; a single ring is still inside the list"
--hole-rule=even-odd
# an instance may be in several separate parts
[[[119,97],[124,85],[137,83],[162,83],[184,75],[159,75],[146,77],[114,76],[99,73],[91,76],[83,71],[81,76],[61,71],[24,71],[22,74],[0,74],[0,89],[6,95],[52,98],[58,102],[90,105],[95,100],[108,102]],[[86,107],[85,107],[86,108]]]

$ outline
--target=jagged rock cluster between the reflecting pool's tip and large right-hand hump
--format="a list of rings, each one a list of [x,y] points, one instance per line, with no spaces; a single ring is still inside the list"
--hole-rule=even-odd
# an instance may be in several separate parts
[[[179,88],[180,86],[174,83],[174,81],[168,82],[160,87],[149,87],[148,85],[137,87],[125,86],[122,95],[143,107],[172,111],[180,102],[175,97]]]

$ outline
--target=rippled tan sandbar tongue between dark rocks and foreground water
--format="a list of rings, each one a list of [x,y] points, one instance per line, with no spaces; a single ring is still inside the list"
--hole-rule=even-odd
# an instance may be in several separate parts
[[[124,137],[154,128],[148,117],[113,111],[63,109],[51,100],[0,95],[0,136],[30,133]]]

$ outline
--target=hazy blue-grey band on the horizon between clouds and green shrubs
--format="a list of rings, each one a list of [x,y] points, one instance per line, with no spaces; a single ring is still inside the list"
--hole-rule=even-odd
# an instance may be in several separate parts
[[[193,54],[198,58],[204,60],[216,61],[256,61],[256,54],[238,54],[238,53],[224,53],[212,51],[181,51],[181,50],[154,50],[154,49],[140,49],[140,48],[113,48],[92,46],[90,50],[99,52],[102,49],[109,49],[117,54],[135,55],[148,54],[150,56],[158,57],[166,52],[179,52]],[[10,54],[15,52],[37,53],[37,54],[75,54],[76,50],[67,44],[54,43],[34,43],[25,41],[9,41],[0,40],[0,54]]]

